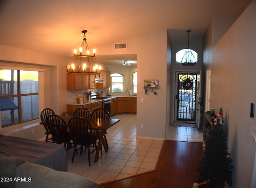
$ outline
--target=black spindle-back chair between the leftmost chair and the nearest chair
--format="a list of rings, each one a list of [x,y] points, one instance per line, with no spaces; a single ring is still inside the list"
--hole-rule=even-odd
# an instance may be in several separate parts
[[[72,148],[72,135],[68,132],[66,122],[60,116],[51,114],[46,119],[46,126],[52,134],[52,141],[64,144],[66,150]]]

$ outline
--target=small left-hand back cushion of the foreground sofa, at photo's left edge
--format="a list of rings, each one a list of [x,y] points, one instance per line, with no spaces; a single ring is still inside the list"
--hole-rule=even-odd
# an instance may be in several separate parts
[[[0,154],[0,187],[12,188],[14,187],[14,178],[16,167],[23,164],[26,160]],[[10,179],[11,178],[11,179]]]

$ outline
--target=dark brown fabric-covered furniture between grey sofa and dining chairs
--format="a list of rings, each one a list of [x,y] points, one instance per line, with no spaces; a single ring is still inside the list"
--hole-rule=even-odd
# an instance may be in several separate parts
[[[66,149],[62,144],[0,135],[0,154],[16,156],[58,171],[67,171]]]

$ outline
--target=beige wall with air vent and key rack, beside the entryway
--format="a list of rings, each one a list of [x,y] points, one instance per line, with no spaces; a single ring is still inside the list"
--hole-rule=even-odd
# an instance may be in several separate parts
[[[166,119],[170,116],[170,103],[167,100],[167,73],[170,68],[167,63],[167,30],[161,30],[116,43],[127,42],[126,50],[115,50],[114,44],[97,47],[99,55],[108,54],[137,54],[138,93],[137,93],[137,136],[164,139],[166,133]],[[169,47],[170,48],[170,47]],[[170,61],[169,61],[170,63]],[[169,66],[170,67],[170,66]],[[110,70],[111,71],[111,70]],[[143,80],[159,79],[158,95],[144,94]],[[170,96],[170,92],[168,92]],[[145,98],[146,103],[140,103]],[[168,111],[167,111],[168,110]],[[166,118],[168,116],[168,118]],[[140,129],[144,125],[144,129]]]

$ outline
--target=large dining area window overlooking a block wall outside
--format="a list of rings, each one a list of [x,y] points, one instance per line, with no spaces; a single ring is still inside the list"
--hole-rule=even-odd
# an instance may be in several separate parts
[[[38,81],[43,77],[33,68],[0,69],[0,129],[39,118]]]

